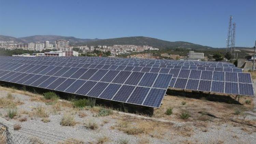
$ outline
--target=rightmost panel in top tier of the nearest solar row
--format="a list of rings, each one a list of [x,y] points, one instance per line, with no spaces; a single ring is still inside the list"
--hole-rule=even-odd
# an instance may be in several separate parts
[[[158,74],[153,87],[156,88],[168,88],[170,81],[172,79],[172,74]]]

